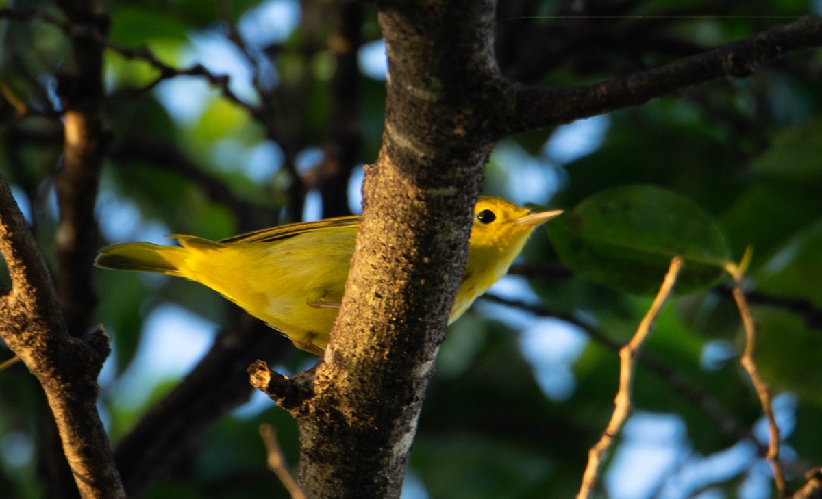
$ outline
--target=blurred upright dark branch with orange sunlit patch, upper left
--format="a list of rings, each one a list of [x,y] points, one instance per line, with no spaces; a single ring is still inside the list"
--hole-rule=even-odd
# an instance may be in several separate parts
[[[96,0],[61,0],[58,5],[72,24],[108,32],[109,15]],[[97,302],[92,278],[97,253],[95,200],[109,130],[102,109],[103,47],[85,38],[70,41],[71,62],[58,73],[64,140],[62,167],[55,181],[60,213],[55,241],[58,297],[68,331],[81,336]]]

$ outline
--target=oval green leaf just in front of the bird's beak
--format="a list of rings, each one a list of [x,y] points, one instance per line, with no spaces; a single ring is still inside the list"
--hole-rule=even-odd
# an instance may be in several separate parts
[[[593,282],[653,294],[674,256],[685,260],[677,292],[700,291],[723,275],[723,233],[690,200],[652,186],[605,190],[548,227],[562,261]]]

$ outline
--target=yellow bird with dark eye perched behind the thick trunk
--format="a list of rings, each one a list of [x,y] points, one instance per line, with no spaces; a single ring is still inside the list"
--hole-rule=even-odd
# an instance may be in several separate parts
[[[560,213],[530,213],[503,199],[480,197],[449,323],[506,274],[536,227]],[[111,245],[100,249],[95,264],[200,282],[288,336],[298,348],[322,355],[343,299],[359,222],[359,217],[336,217],[291,223],[220,241],[169,236],[182,247]]]

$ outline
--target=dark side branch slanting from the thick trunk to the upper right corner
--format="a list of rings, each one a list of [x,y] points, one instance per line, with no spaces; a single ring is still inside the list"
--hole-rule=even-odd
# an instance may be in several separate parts
[[[750,39],[617,80],[558,89],[515,86],[510,90],[515,109],[499,119],[498,131],[510,135],[637,106],[691,85],[750,76],[779,57],[820,46],[822,18],[806,16]]]

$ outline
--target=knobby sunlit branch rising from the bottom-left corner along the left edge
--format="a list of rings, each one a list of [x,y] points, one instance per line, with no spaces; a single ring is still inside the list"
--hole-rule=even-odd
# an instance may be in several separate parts
[[[99,328],[85,338],[68,334],[43,258],[2,178],[0,251],[12,277],[12,290],[0,298],[0,337],[43,387],[81,496],[126,497],[96,407],[109,337]]]

